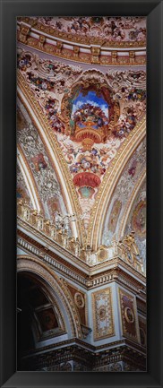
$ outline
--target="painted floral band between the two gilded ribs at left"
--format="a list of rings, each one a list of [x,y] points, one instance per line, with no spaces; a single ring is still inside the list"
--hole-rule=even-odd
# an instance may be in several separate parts
[[[26,160],[28,160],[30,174],[37,185],[45,216],[47,219],[54,221],[57,219],[58,213],[66,213],[61,188],[57,182],[55,170],[51,166],[47,151],[39,137],[39,133],[36,127],[31,123],[30,116],[19,99],[18,112],[18,116],[21,118],[17,122],[17,142],[19,146],[21,146],[21,150]],[[24,112],[26,117],[23,116]],[[20,181],[21,177],[19,178],[18,175],[18,182]],[[67,232],[71,234],[68,224]]]

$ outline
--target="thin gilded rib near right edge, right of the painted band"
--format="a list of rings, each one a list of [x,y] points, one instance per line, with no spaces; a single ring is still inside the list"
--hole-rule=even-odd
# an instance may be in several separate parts
[[[129,198],[129,201],[126,203],[123,217],[120,220],[120,225],[119,225],[119,230],[118,230],[118,239],[121,239],[124,236],[124,230],[125,230],[128,218],[129,218],[129,214],[133,208],[133,203],[137,197],[137,194],[140,191],[140,188],[142,187],[142,184],[145,182],[145,179],[146,179],[146,170],[143,170],[140,179],[138,180],[137,184],[135,185],[135,187],[133,189],[133,193],[132,193],[131,197]]]

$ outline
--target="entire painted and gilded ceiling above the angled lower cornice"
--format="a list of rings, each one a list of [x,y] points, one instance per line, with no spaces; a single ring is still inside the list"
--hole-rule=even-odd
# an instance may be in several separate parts
[[[18,197],[82,245],[134,230],[142,252],[145,18],[18,18],[18,40]]]

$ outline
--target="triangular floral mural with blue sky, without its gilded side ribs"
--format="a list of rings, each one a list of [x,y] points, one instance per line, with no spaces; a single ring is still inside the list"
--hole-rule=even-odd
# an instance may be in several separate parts
[[[96,69],[82,71],[81,66],[43,60],[21,48],[18,48],[18,69],[63,152],[87,228],[111,161],[144,115],[145,71],[109,69],[106,74]],[[50,172],[40,149],[33,158],[34,173],[39,173],[41,165],[48,180],[47,171],[48,175]]]

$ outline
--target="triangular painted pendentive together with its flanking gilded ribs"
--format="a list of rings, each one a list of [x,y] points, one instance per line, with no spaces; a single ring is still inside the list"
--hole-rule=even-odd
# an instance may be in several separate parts
[[[61,185],[64,202],[67,202],[67,209],[69,213],[75,213],[76,221],[72,222],[73,236],[96,248],[100,242],[101,225],[107,209],[106,193],[110,199],[126,157],[130,157],[135,144],[141,142],[142,133],[145,132],[145,118],[142,119],[145,111],[145,72],[127,70],[124,74],[123,71],[113,69],[104,74],[95,69],[82,71],[82,67],[43,60],[22,49],[18,67],[19,95],[48,151]],[[110,123],[107,127],[99,124],[98,128],[94,128],[92,118],[85,125],[85,121],[88,121],[88,109],[84,113],[84,144],[85,140],[89,140],[87,146],[82,144],[79,124],[75,124],[75,133],[74,127],[71,132],[75,101],[72,91],[79,95],[79,86],[82,87],[82,95],[88,91],[96,91],[100,97],[103,93],[110,109]],[[69,89],[65,90],[66,87]],[[93,101],[91,105],[91,112],[96,117],[97,101]],[[80,112],[81,114],[83,116]],[[91,117],[93,115],[91,113]],[[101,123],[102,116],[98,116],[98,120]],[[96,131],[101,136],[100,141],[97,140]],[[90,144],[92,134],[94,144]]]

